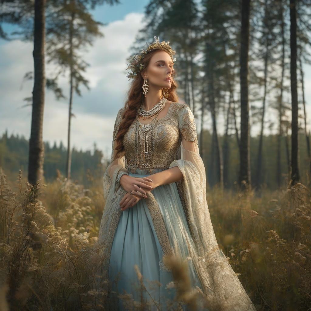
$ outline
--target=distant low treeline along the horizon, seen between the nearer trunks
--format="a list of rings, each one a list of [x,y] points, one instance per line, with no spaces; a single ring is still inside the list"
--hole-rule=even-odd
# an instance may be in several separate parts
[[[238,166],[239,166],[239,151],[236,144],[236,138],[234,136],[224,137],[220,136],[220,142],[227,140],[229,145],[230,155],[229,157],[229,167],[227,170],[228,174],[228,188],[234,188],[236,181],[238,179]],[[199,137],[200,139],[200,137]],[[278,188],[278,180],[275,175],[276,167],[276,152],[277,152],[277,135],[269,135],[263,137],[263,167],[264,176],[263,179],[264,187],[269,189]],[[289,139],[289,138],[288,138]],[[302,172],[306,172],[309,169],[308,161],[306,158],[307,145],[304,137],[304,133],[299,134],[299,163]],[[210,146],[212,143],[211,134],[208,130],[204,131],[203,144]],[[250,138],[251,148],[251,171],[256,170],[256,150],[259,144],[258,137]],[[62,175],[66,175],[66,155],[67,148],[60,142],[57,145],[55,142],[53,146],[49,142],[44,142],[45,149],[45,159],[44,159],[44,177],[50,182],[55,179],[57,170]],[[16,179],[16,169],[21,169],[25,174],[28,167],[28,150],[29,142],[24,137],[19,137],[11,135],[7,136],[6,133],[0,135],[0,166],[5,170],[8,179],[13,182]],[[281,159],[281,184],[284,186],[287,183],[287,178],[289,174],[289,157],[286,150],[286,145],[282,144],[281,153],[285,155]],[[73,148],[72,151],[72,179],[76,180],[79,184],[83,184],[85,187],[89,187],[91,181],[100,182],[103,176],[103,169],[106,167],[101,164],[103,162],[102,151],[95,149],[94,151],[78,151]],[[212,161],[211,161],[211,150],[202,155],[203,161],[206,166],[206,172],[208,180],[212,180]],[[106,160],[106,159],[105,159]],[[304,176],[302,175],[302,179]]]

